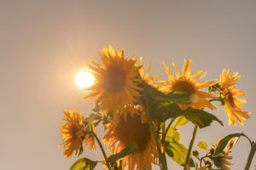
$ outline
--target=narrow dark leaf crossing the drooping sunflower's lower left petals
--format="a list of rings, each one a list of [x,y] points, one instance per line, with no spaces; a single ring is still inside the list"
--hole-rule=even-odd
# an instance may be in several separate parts
[[[132,144],[128,145],[127,147],[125,147],[124,150],[121,150],[119,153],[109,156],[107,159],[107,162],[117,161],[122,157],[128,156],[131,153],[136,152],[137,150],[138,150],[137,144],[132,143]]]

